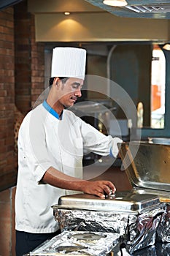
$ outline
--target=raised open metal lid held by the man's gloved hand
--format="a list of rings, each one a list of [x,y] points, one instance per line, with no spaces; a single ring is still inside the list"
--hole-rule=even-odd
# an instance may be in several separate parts
[[[131,142],[118,146],[133,187],[170,192],[170,145]]]

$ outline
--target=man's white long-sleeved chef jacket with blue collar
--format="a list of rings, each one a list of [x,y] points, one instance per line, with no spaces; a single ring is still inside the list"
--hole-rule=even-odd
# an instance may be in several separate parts
[[[49,167],[82,178],[83,148],[96,154],[117,155],[119,138],[105,136],[70,110],[62,117],[47,102],[23,119],[18,133],[18,183],[15,195],[15,228],[28,233],[53,233],[58,222],[53,206],[71,190],[43,184]]]

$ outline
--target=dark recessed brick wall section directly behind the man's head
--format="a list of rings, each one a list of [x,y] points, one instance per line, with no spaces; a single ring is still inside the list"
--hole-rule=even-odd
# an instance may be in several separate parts
[[[27,1],[16,4],[14,10],[15,105],[25,115],[44,89],[44,43],[35,41],[34,15],[27,12]]]

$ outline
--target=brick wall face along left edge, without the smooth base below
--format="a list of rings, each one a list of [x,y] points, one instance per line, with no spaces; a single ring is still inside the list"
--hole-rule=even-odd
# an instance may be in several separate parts
[[[0,12],[0,187],[6,188],[14,173],[14,61],[13,9]],[[9,181],[9,185],[12,181]]]

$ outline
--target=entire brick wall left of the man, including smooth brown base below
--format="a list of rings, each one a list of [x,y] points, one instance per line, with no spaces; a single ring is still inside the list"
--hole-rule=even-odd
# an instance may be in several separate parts
[[[44,44],[35,41],[34,32],[27,1],[0,10],[1,256],[15,256],[15,106],[26,115],[44,90]]]

